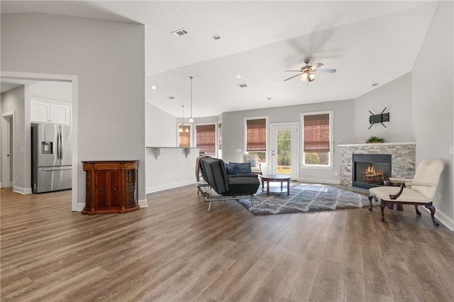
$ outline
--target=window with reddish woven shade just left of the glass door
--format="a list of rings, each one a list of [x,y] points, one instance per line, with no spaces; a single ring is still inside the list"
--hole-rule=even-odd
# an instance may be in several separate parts
[[[259,162],[267,158],[267,119],[246,119],[246,152],[258,155]]]

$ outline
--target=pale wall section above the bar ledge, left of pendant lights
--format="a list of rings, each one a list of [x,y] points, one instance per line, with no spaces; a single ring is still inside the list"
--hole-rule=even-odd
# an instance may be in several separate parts
[[[148,102],[145,110],[145,145],[177,147],[177,118]]]

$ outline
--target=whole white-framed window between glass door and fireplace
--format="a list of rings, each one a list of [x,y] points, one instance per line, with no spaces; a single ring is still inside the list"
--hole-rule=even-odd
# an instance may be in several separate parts
[[[331,112],[304,113],[303,164],[331,167]]]

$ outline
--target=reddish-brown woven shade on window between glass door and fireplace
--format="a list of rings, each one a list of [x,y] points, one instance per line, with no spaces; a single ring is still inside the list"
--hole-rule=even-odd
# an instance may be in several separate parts
[[[329,114],[304,116],[304,152],[329,152]]]

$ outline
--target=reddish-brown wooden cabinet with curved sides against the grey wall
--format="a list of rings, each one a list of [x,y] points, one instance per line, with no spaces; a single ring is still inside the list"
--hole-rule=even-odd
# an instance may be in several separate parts
[[[126,213],[139,209],[138,160],[93,161],[82,164],[87,179],[82,214]]]

